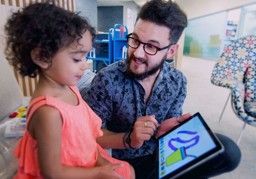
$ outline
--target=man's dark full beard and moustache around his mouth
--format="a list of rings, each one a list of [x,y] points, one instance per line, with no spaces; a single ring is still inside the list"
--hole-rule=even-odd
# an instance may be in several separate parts
[[[151,75],[156,74],[156,72],[159,69],[163,68],[163,64],[164,64],[164,61],[166,60],[166,57],[167,57],[167,53],[162,58],[161,62],[159,62],[158,64],[155,64],[152,68],[148,69],[148,61],[147,61],[147,59],[135,58],[134,54],[131,54],[130,56],[127,54],[127,57],[126,57],[126,73],[128,75],[130,75],[130,76],[133,76],[134,78],[137,78],[138,80],[144,80],[145,78],[147,78],[147,77],[149,77]],[[143,62],[146,65],[146,70],[144,72],[142,72],[142,73],[134,73],[134,72],[132,72],[132,70],[131,70],[132,59],[140,60],[140,62]],[[135,69],[136,68],[139,68],[139,67],[135,66]]]

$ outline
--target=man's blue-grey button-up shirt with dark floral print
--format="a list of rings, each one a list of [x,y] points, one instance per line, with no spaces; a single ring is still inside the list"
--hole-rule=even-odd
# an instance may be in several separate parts
[[[99,71],[87,94],[87,104],[102,119],[102,128],[112,132],[133,131],[137,118],[154,114],[158,124],[182,115],[187,79],[179,70],[165,62],[147,104],[141,83],[126,74],[126,60],[119,60]],[[152,154],[155,136],[144,141],[139,149],[112,149],[118,159]]]

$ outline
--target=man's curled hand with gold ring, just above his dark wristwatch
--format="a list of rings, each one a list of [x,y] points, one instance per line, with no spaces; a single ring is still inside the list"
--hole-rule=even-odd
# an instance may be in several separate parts
[[[146,121],[146,122],[145,122]],[[145,127],[146,124],[146,127]],[[143,116],[136,120],[131,133],[131,146],[133,148],[140,148],[144,140],[150,140],[154,135],[154,131],[158,127],[158,122],[155,119],[155,115]]]

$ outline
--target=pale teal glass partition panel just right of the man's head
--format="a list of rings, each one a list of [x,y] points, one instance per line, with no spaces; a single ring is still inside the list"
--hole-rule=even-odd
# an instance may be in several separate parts
[[[183,54],[217,60],[226,20],[226,11],[188,20]]]

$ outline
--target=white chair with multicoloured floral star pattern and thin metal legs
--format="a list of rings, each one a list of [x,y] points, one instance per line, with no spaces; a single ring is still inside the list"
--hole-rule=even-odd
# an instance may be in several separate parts
[[[211,74],[212,84],[231,90],[232,107],[236,115],[245,122],[243,129],[246,124],[256,127],[255,61],[256,36],[243,37],[224,50]]]

